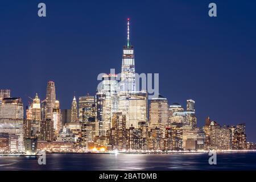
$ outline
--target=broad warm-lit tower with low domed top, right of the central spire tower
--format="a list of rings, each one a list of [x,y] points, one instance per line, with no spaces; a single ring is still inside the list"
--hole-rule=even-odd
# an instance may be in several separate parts
[[[164,128],[168,126],[168,101],[161,95],[152,98],[150,102],[150,129],[155,127]]]

